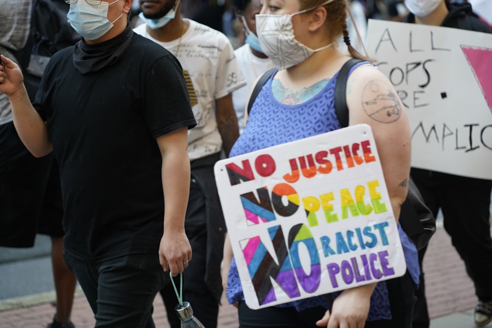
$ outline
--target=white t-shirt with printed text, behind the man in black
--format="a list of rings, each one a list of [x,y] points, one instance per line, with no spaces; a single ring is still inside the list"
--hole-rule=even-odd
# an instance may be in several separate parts
[[[196,127],[188,130],[188,155],[194,160],[222,149],[215,119],[215,99],[243,87],[246,82],[227,36],[195,21],[185,21],[189,22],[188,30],[181,38],[170,42],[152,38],[146,24],[133,30],[166,48],[183,66],[197,122]]]

